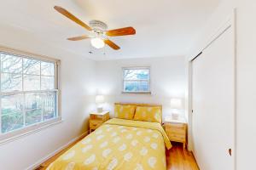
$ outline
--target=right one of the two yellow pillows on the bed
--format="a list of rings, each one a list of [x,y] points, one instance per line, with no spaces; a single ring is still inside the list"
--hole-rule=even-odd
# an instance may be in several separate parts
[[[161,123],[161,117],[161,108],[158,106],[137,106],[134,120]]]

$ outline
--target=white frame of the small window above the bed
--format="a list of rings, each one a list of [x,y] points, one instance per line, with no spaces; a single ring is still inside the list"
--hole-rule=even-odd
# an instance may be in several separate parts
[[[125,82],[127,82],[125,80],[125,70],[148,70],[148,89],[149,91],[125,91]],[[150,84],[150,80],[151,80],[151,70],[150,70],[150,66],[131,66],[131,67],[122,67],[122,86],[123,86],[123,90],[122,90],[122,94],[151,94],[151,84]],[[146,82],[146,80],[132,80],[133,82]]]

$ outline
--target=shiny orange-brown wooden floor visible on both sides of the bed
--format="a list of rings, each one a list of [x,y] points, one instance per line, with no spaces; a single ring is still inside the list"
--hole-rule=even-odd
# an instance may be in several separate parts
[[[60,153],[51,157],[48,161],[42,163],[36,170],[45,170],[52,161],[55,161],[55,159],[61,156],[78,141],[79,140],[71,144],[67,149],[62,150]],[[199,170],[193,154],[188,150],[183,150],[183,144],[172,143],[172,149],[166,151],[166,162],[167,170]]]

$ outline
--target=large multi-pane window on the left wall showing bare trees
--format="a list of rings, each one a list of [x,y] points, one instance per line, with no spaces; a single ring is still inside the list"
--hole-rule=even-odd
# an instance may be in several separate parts
[[[33,57],[0,51],[2,136],[59,116],[58,62]]]

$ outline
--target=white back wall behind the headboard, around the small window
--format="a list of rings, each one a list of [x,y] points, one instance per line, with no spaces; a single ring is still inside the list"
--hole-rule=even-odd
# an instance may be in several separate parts
[[[150,66],[152,94],[121,94],[122,67]],[[170,99],[184,99],[185,59],[182,56],[119,59],[96,63],[97,88],[106,98],[106,110],[113,114],[114,102],[151,103],[163,105],[163,115],[171,113]]]

